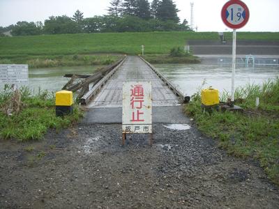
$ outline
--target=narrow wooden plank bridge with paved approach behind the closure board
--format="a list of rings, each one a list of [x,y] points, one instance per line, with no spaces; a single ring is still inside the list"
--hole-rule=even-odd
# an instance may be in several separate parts
[[[121,123],[123,82],[135,81],[152,84],[153,122],[186,122],[177,106],[190,98],[140,56],[127,56],[82,98],[89,109],[84,123]]]

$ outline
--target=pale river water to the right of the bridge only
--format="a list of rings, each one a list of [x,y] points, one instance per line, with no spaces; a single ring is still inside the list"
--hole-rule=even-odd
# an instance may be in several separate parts
[[[193,95],[200,88],[213,86],[220,93],[231,91],[232,68],[203,64],[168,64],[155,65],[173,84],[179,86],[187,95]],[[279,76],[279,66],[236,69],[235,86],[262,84],[267,79]],[[203,85],[204,84],[204,85]]]

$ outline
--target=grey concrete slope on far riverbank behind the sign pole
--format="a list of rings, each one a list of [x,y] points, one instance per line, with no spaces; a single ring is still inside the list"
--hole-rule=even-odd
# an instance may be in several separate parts
[[[188,45],[190,45],[193,54],[232,54],[232,40],[227,42],[215,40],[189,40]],[[237,40],[236,54],[279,56],[279,41]]]

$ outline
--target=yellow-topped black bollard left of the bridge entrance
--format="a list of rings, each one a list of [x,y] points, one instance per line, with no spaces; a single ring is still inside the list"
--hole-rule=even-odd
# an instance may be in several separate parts
[[[65,116],[73,112],[73,92],[57,91],[55,93],[56,116]]]

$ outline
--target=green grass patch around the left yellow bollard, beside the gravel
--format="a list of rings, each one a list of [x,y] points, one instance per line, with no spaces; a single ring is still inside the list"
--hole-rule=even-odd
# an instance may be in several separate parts
[[[55,115],[54,95],[43,91],[30,95],[27,88],[22,88],[22,110],[19,114],[7,116],[3,107],[13,95],[10,89],[0,93],[0,138],[18,141],[42,139],[48,129],[60,130],[77,122],[82,111],[75,106],[73,114],[63,118]]]

